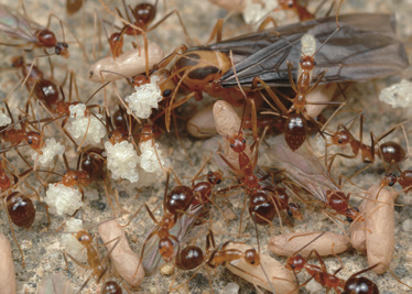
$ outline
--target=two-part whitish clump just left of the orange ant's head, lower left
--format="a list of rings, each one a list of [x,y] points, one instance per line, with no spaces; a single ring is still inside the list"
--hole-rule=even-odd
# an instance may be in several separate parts
[[[72,233],[76,233],[83,229],[83,221],[78,218],[71,218],[66,221],[66,231],[69,233],[62,235],[62,243],[66,252],[77,259],[78,261],[86,261],[86,252],[83,244]]]

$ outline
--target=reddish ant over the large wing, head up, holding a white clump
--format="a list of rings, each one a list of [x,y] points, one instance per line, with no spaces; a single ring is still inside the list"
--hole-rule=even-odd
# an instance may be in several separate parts
[[[252,88],[258,88],[258,84],[261,84],[269,96],[273,99],[277,106],[281,109],[283,116],[286,116],[288,119],[284,124],[284,139],[292,149],[292,151],[297,150],[306,140],[308,128],[307,121],[312,121],[315,128],[318,128],[318,122],[307,115],[306,105],[341,105],[340,102],[308,102],[306,97],[310,92],[312,92],[317,85],[321,83],[323,77],[325,76],[327,70],[322,72],[317,77],[315,83],[311,86],[311,81],[313,79],[312,74],[313,69],[315,68],[315,55],[321,51],[321,48],[327,43],[327,41],[336,34],[340,26],[338,22],[338,13],[343,0],[339,1],[339,6],[336,10],[336,30],[325,40],[325,42],[316,50],[316,40],[311,34],[305,34],[302,37],[302,51],[301,51],[301,59],[299,66],[299,78],[296,83],[293,80],[292,77],[292,69],[293,64],[288,62],[288,72],[289,72],[289,79],[291,83],[292,89],[295,91],[294,98],[289,98],[283,94],[279,92],[283,98],[290,100],[292,106],[290,109],[286,109],[285,106],[282,104],[280,98],[277,96],[274,91],[272,91],[269,86],[259,77],[256,76],[252,80]],[[293,46],[293,45],[292,45]],[[277,110],[274,106],[272,106],[268,99],[262,95],[263,99],[270,105],[273,110]],[[262,112],[269,115],[277,115],[274,112]]]

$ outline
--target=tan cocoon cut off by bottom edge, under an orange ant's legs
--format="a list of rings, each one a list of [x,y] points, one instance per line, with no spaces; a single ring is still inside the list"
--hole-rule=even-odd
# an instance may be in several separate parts
[[[226,249],[238,249],[245,252],[246,250],[251,249],[251,247],[247,244],[234,243],[229,244]],[[261,286],[268,291],[272,291],[260,265],[250,265],[243,259],[239,261],[232,261],[231,263],[232,265],[229,263],[226,263],[225,265],[229,271],[245,279],[249,283]],[[260,264],[263,266],[265,273],[268,274],[269,281],[277,294],[297,293],[293,273],[286,270],[283,264],[264,254],[260,254]]]

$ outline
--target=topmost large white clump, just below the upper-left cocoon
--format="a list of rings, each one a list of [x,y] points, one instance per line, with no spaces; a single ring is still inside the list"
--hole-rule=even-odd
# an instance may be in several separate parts
[[[133,112],[140,119],[148,119],[150,117],[152,108],[158,108],[159,101],[163,98],[158,83],[159,77],[152,76],[150,84],[134,87],[135,91],[124,98],[124,101],[129,105],[129,115]]]

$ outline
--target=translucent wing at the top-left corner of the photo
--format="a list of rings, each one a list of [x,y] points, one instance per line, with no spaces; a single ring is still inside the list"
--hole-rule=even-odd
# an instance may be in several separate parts
[[[42,30],[40,24],[26,17],[12,12],[9,7],[0,4],[0,32],[12,39],[23,39],[35,42],[34,32]]]

